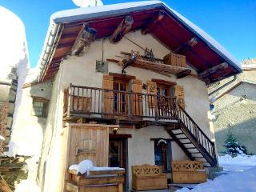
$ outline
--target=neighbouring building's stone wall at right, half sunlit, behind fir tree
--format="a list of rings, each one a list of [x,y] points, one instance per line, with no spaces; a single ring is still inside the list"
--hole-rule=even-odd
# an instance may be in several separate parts
[[[240,86],[214,102],[214,130],[218,153],[229,130],[245,145],[249,153],[256,154],[256,85],[243,82]],[[244,98],[244,95],[246,96]]]

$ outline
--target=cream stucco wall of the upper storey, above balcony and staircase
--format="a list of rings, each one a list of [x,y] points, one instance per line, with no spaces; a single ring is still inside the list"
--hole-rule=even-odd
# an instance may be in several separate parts
[[[142,35],[140,31],[136,31],[126,34],[126,37],[142,47],[152,48],[155,58],[163,58],[166,54],[170,53],[170,50],[165,46],[162,46],[162,44],[150,34]],[[106,61],[106,58],[118,59],[115,56],[120,55],[120,51],[130,52],[131,50],[136,50],[141,54],[144,54],[144,50],[141,50],[126,38],[122,38],[117,44],[111,44],[109,39],[106,39],[103,42],[103,59],[104,61]],[[64,60],[62,62],[62,76],[65,78],[62,79],[62,89],[67,88],[70,83],[77,86],[102,88],[103,74],[96,72],[96,60],[101,59],[102,40],[98,40],[93,42],[90,45],[90,49],[86,50],[85,54],[82,54],[82,56],[70,57]],[[109,62],[108,70],[112,73],[121,74],[122,67]],[[198,126],[200,126],[210,138],[214,138],[214,130],[210,130],[207,117],[209,102],[205,82],[191,76],[177,79],[175,75],[172,75],[171,78],[169,78],[162,74],[157,74],[150,70],[143,70],[134,66],[127,67],[126,72],[127,74],[134,75],[136,78],[142,80],[142,83],[150,81],[151,78],[158,78],[177,82],[178,85],[183,86],[185,90],[186,111],[192,118],[194,118],[194,121],[198,123]],[[195,73],[194,70],[193,73]],[[146,93],[146,90],[143,91]]]

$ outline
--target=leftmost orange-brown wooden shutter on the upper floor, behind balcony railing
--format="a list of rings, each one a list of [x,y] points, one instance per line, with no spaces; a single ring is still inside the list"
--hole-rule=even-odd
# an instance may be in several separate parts
[[[103,75],[103,82],[102,82],[102,88],[106,89],[103,91],[103,112],[105,114],[113,114],[113,76],[110,75]]]

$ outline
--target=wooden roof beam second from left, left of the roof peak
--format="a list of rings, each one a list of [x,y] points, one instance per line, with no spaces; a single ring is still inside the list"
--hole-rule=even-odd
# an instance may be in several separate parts
[[[132,18],[129,15],[126,16],[126,18],[124,18],[122,22],[119,24],[118,28],[114,30],[114,33],[110,37],[110,42],[119,42],[122,39],[122,37],[129,32],[133,24],[134,18]]]

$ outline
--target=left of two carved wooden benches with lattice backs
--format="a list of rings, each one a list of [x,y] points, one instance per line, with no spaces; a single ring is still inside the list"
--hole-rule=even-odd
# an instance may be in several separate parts
[[[132,183],[134,190],[167,189],[167,176],[161,166],[132,166]]]

